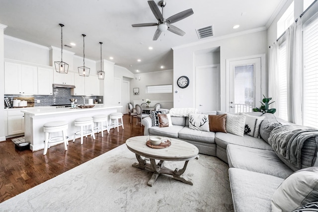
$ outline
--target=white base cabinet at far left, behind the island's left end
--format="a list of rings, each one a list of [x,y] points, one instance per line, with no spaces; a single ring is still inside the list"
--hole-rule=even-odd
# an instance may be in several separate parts
[[[8,136],[24,133],[24,113],[20,110],[8,111],[7,117]]]

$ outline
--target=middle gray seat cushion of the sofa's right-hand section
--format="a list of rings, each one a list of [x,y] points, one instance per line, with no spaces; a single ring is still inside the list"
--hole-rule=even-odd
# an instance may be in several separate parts
[[[229,144],[227,155],[229,167],[270,174],[284,179],[294,172],[277,157],[273,150]]]

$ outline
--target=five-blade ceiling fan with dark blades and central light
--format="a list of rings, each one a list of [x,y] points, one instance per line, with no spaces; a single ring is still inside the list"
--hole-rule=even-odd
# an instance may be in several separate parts
[[[179,12],[177,14],[174,14],[167,19],[163,18],[163,7],[165,6],[166,2],[164,0],[159,1],[159,6],[162,8],[162,12],[160,12],[156,2],[154,0],[149,0],[148,4],[153,11],[155,17],[158,20],[158,23],[139,23],[139,24],[132,24],[133,27],[142,27],[142,26],[158,26],[153,40],[157,40],[161,34],[161,32],[165,32],[166,30],[173,32],[177,35],[183,36],[185,34],[184,31],[179,29],[178,27],[175,27],[171,25],[171,23],[175,23],[179,20],[182,20],[183,18],[186,18],[193,14],[192,9],[187,9],[182,12]]]

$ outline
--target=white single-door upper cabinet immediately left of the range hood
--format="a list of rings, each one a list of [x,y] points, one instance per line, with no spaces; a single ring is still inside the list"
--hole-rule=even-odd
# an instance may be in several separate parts
[[[53,95],[53,68],[38,68],[38,95]]]

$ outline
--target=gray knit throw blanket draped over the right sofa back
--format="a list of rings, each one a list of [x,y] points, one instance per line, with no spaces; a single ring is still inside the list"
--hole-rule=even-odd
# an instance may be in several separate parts
[[[301,169],[302,147],[311,137],[318,139],[318,129],[301,125],[282,125],[272,130],[268,142],[278,157]]]

